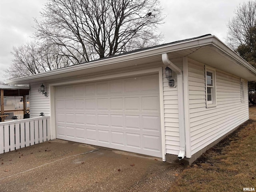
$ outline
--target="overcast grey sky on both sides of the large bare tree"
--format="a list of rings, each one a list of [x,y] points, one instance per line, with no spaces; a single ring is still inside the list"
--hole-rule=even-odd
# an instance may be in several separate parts
[[[166,14],[159,31],[164,43],[212,34],[225,42],[226,24],[239,3],[248,0],[160,0]],[[0,81],[12,63],[13,46],[32,40],[34,19],[46,0],[0,0]]]

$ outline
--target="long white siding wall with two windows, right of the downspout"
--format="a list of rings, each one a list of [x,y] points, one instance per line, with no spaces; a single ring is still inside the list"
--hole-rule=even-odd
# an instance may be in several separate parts
[[[188,62],[191,154],[249,119],[248,87],[241,102],[240,78],[216,69],[216,107],[206,108],[204,64]]]

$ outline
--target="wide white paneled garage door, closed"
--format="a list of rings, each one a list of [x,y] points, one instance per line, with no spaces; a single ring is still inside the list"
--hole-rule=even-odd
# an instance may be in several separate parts
[[[158,74],[55,88],[59,139],[161,157]]]

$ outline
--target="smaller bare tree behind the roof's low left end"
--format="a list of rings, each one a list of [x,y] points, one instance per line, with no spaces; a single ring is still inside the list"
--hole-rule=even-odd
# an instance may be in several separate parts
[[[13,47],[11,54],[14,59],[4,76],[13,79],[72,65],[72,61],[60,53],[62,50],[59,47],[44,45],[38,41]]]

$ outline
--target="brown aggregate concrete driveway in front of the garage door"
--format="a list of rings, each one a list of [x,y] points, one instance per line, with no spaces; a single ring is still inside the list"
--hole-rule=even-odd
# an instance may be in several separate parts
[[[164,192],[183,166],[61,141],[0,154],[0,192]]]

